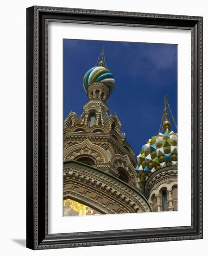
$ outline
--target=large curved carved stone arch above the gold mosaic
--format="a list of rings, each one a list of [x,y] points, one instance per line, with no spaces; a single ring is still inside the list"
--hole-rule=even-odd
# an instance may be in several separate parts
[[[149,212],[151,211],[150,205],[137,189],[132,188],[120,179],[96,169],[94,167],[82,164],[76,161],[65,162],[63,166],[63,183],[65,186],[64,196],[75,196],[74,194],[79,194],[79,189],[91,189],[94,190],[95,199],[93,207],[98,209],[99,202],[96,202],[96,198],[107,198],[109,200],[109,205],[113,204],[111,207],[111,212],[118,213],[115,206],[122,205],[124,212]],[[66,189],[67,186],[72,186],[73,183],[78,184],[77,190]],[[85,188],[84,188],[85,187]],[[77,192],[78,191],[78,192]],[[87,195],[87,191],[84,196]],[[82,200],[84,200],[84,196]],[[74,198],[74,197],[73,197]],[[104,199],[102,199],[104,200]],[[105,201],[105,200],[104,200]],[[89,202],[88,202],[89,203]],[[97,207],[96,207],[97,205]]]

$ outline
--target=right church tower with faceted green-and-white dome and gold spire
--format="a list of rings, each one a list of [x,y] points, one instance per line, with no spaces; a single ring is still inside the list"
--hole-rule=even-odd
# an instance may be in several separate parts
[[[166,106],[176,126],[165,95],[164,113],[158,135],[152,136],[137,156],[139,188],[148,199],[152,211],[177,210],[177,133],[170,132]]]

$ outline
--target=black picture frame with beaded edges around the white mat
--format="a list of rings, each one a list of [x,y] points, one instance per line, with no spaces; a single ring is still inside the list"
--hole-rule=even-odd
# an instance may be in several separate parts
[[[59,7],[27,13],[27,230],[26,247],[54,249],[202,239],[202,17]],[[191,226],[48,234],[47,20],[191,30]],[[69,230],[70,232],[70,230]]]

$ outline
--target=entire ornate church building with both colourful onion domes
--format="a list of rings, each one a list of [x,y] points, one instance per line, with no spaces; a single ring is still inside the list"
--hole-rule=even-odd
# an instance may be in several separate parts
[[[115,81],[104,48],[98,61],[83,78],[82,115],[70,112],[63,123],[63,216],[177,210],[177,133],[167,96],[158,135],[135,158],[106,103]]]

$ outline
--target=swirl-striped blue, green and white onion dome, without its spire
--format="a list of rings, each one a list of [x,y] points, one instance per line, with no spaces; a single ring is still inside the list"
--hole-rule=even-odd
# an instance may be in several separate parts
[[[100,66],[90,68],[84,75],[83,82],[83,86],[86,92],[88,86],[91,83],[103,82],[110,89],[111,94],[114,89],[115,80],[113,79],[113,74],[110,73],[110,70],[108,70],[106,67]]]

